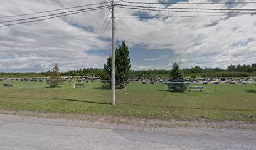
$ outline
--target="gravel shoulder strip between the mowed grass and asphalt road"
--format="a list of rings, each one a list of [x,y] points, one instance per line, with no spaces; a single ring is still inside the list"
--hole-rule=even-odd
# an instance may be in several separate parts
[[[33,111],[4,111],[0,115],[11,115],[27,118],[40,118],[42,123],[53,123],[61,126],[77,126],[104,129],[168,129],[168,128],[209,128],[209,129],[238,129],[256,131],[256,123],[243,121],[177,121],[157,119],[122,118],[116,116],[98,116],[88,114],[56,114],[37,113]],[[49,122],[50,121],[50,122]]]

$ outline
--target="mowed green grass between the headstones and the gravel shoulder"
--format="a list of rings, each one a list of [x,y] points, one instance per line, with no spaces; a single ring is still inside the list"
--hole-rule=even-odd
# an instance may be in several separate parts
[[[7,88],[3,84],[12,83]],[[70,88],[70,83],[49,88],[46,82],[0,81],[0,109],[121,116],[125,118],[178,119],[186,121],[252,121],[256,122],[255,83],[197,85],[200,91],[171,93],[164,84],[146,85],[132,82],[116,91],[116,106],[111,106],[111,91],[102,90],[100,81],[85,83],[85,88]]]

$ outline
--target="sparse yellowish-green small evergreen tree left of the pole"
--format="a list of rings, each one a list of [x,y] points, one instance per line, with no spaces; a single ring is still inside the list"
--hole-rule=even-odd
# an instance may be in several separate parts
[[[48,83],[52,88],[55,88],[60,84],[63,84],[63,81],[62,81],[60,73],[59,73],[58,64],[54,65],[54,67],[51,71]]]

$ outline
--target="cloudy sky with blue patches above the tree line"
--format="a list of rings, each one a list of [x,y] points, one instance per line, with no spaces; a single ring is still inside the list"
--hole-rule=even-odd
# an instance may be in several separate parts
[[[145,2],[144,0],[127,0]],[[243,2],[244,0],[239,0]],[[245,0],[253,2],[253,0]],[[94,4],[95,0],[0,0],[0,22],[4,18],[53,9]],[[147,2],[237,2],[235,0],[152,0]],[[256,4],[157,5],[170,8],[255,9]],[[154,6],[154,5],[143,5]],[[109,9],[59,17],[46,21],[0,27],[0,72],[48,71],[58,63],[60,71],[103,68],[111,54],[111,24],[85,58],[102,24],[110,21]],[[38,16],[35,14],[32,16]],[[198,16],[196,12],[139,11],[116,8],[117,41],[130,50],[131,69],[227,68],[230,64],[256,63],[256,16],[142,18],[154,16]],[[122,18],[122,17],[126,18]],[[128,17],[129,16],[129,17]],[[138,18],[131,18],[137,16]],[[0,23],[0,25],[3,25]],[[84,62],[85,61],[85,62]],[[83,64],[84,63],[84,64]]]

